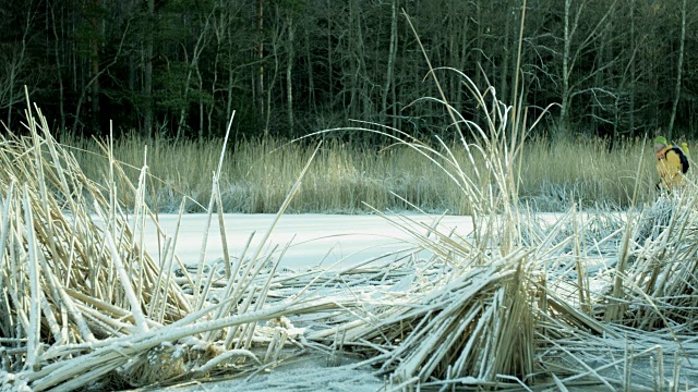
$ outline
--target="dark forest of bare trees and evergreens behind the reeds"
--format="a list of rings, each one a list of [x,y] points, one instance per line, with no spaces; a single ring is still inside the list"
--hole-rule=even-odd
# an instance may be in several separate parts
[[[447,132],[404,9],[433,66],[512,101],[521,0],[3,0],[1,120],[24,85],[58,130],[148,137],[291,137],[350,119]],[[698,113],[698,2],[529,0],[526,105],[550,136],[687,136]],[[438,71],[466,118],[476,106]],[[561,126],[562,125],[562,126]],[[542,131],[541,131],[542,132]]]

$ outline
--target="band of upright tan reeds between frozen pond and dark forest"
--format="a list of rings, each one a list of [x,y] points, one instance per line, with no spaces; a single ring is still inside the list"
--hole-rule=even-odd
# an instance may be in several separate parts
[[[359,132],[357,130],[349,132]],[[329,139],[323,145],[311,164],[305,186],[289,206],[293,212],[365,212],[362,203],[376,209],[413,209],[410,204],[430,212],[448,210],[469,213],[460,189],[442,171],[420,154],[404,146],[385,148],[351,145]],[[61,143],[72,146],[72,152],[85,174],[104,184],[107,173],[106,152],[95,140],[63,135]],[[123,162],[124,173],[136,182],[148,149],[148,187],[156,197],[148,196],[149,206],[160,211],[177,211],[181,198],[186,196],[198,203],[189,204],[188,210],[203,211],[210,196],[212,171],[222,140],[172,142],[160,138],[143,139],[125,135],[113,144],[115,159]],[[467,151],[458,140],[438,145],[429,142],[436,152],[448,149],[461,168],[470,172]],[[314,149],[313,144],[288,143],[262,137],[238,140],[226,156],[225,172],[220,179],[221,201],[227,212],[275,212],[285,199],[296,175]],[[84,150],[84,151],[83,151]],[[519,193],[540,211],[564,211],[570,200],[580,200],[586,207],[595,205],[628,206],[628,196],[635,185],[637,161],[642,154],[642,140],[618,143],[612,151],[607,144],[597,139],[563,139],[549,142],[531,139],[524,146]],[[443,162],[442,159],[437,159]],[[482,168],[482,161],[476,161]],[[653,167],[642,168],[643,193],[641,199],[653,197]],[[123,200],[127,204],[133,200]]]

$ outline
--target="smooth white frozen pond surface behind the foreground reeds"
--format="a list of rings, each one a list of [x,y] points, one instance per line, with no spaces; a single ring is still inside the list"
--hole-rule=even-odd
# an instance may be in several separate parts
[[[250,253],[255,250],[274,222],[275,215],[225,215],[227,244],[231,257],[240,257],[250,235],[254,234]],[[470,217],[407,215],[416,222],[433,224],[440,219],[440,231],[467,235],[472,230]],[[177,215],[159,215],[160,226],[174,235]],[[392,219],[398,219],[390,216]],[[177,242],[177,255],[186,265],[196,265],[200,259],[202,242],[207,223],[203,213],[184,215]],[[425,233],[425,228],[419,228]],[[208,232],[205,261],[222,257],[218,217],[214,216]],[[161,242],[160,242],[161,243]],[[153,223],[145,230],[146,250],[158,257],[158,240]],[[281,268],[301,268],[322,265],[342,268],[365,261],[370,258],[413,247],[410,234],[390,224],[376,215],[285,215],[280,218],[268,241],[262,249],[267,254],[275,246],[280,252],[287,244],[288,250],[281,258]]]

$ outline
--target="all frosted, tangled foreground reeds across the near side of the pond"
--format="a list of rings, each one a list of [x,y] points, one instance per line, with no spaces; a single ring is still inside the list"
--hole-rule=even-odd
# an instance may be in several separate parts
[[[111,186],[104,186],[52,139],[40,113],[27,112],[31,137],[0,140],[2,388],[249,378],[306,353],[329,364],[358,358],[347,369],[370,366],[386,390],[698,385],[695,187],[625,216],[573,206],[546,223],[521,203],[515,181],[525,134],[509,135],[509,126],[526,121],[477,97],[491,105],[494,132],[468,123],[464,132],[478,143],[459,148],[485,169],[469,173],[450,149],[440,156],[419,140],[396,140],[459,189],[472,233],[386,216],[412,235],[414,252],[340,270],[281,270],[284,249],[263,244],[239,258],[226,254],[216,169],[206,230],[221,233],[229,262],[207,262],[205,248],[182,262],[178,231],[163,232],[161,256],[151,257],[143,247],[144,221],[157,222],[145,203],[149,149],[135,183],[108,159]],[[111,157],[110,144],[104,148]],[[303,184],[309,168],[299,171]],[[300,189],[297,181],[278,216]],[[422,249],[433,256],[418,257]]]

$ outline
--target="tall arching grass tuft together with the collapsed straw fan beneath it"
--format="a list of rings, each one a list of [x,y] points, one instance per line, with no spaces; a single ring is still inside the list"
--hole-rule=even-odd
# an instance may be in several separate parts
[[[431,76],[438,85],[434,70]],[[518,230],[527,118],[517,114],[520,107],[500,102],[493,88],[481,93],[461,76],[482,108],[484,122],[460,117],[443,95],[432,99],[444,105],[453,120],[458,135],[453,148],[437,139],[436,149],[399,130],[363,131],[393,138],[442,171],[469,207],[473,233],[467,238],[437,231],[424,235],[411,230],[407,218],[392,220],[413,233],[434,257],[414,266],[411,281],[390,292],[385,303],[371,304],[359,320],[313,335],[340,333],[345,346],[372,353],[368,363],[400,385],[445,382],[447,387],[468,379],[470,384],[493,388],[530,383],[541,371],[537,333],[544,328],[535,317],[537,265],[532,250],[520,246]]]

